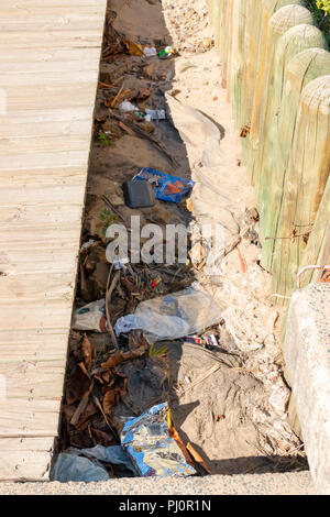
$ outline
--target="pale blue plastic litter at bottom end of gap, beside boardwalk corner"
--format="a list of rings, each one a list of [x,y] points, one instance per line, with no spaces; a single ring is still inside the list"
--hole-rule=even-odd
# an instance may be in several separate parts
[[[88,458],[65,452],[58,454],[52,472],[52,481],[61,483],[69,481],[90,483],[91,481],[108,480],[110,480],[109,474],[102,466],[96,465]]]

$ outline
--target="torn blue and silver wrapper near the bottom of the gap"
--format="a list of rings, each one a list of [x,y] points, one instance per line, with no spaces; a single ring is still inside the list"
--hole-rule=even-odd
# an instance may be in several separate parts
[[[122,447],[143,477],[196,474],[169,437],[167,413],[167,403],[153,406],[141,417],[127,421],[122,429]]]

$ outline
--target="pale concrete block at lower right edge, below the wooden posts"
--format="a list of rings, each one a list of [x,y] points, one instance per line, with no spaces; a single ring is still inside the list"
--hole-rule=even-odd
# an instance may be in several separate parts
[[[330,284],[296,290],[284,356],[309,466],[319,494],[330,494]]]

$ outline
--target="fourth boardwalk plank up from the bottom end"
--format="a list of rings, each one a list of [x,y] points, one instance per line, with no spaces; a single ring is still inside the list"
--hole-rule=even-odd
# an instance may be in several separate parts
[[[0,332],[0,363],[63,361],[68,329],[11,329]]]

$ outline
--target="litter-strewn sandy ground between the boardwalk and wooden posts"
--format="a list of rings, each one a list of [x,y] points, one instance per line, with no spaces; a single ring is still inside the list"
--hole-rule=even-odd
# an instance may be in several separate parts
[[[108,14],[116,31],[128,40],[157,47],[175,45],[178,55],[166,61],[132,55],[102,61],[103,85],[122,86],[130,90],[127,99],[134,102],[141,89],[150,90],[151,96],[140,101],[139,108],[165,109],[167,120],[152,128],[162,151],[150,140],[120,128],[108,109],[109,90],[99,89],[82,242],[94,238],[102,246],[107,243],[100,220],[103,194],[127,224],[130,216],[139,213],[142,226],[196,227],[211,221],[224,228],[226,249],[233,249],[221,273],[207,274],[205,267],[190,264],[179,284],[182,288],[185,282],[197,279],[219,304],[222,321],[212,332],[220,339],[221,353],[168,343],[174,422],[213,474],[304,469],[302,446],[287,420],[289,389],[283,380],[278,339],[283,315],[270,297],[270,275],[258,265],[254,194],[242,165],[239,131],[220,86],[221,63],[206,4],[201,0],[110,0]],[[109,139],[108,145],[99,140],[100,131]],[[128,208],[121,184],[143,166],[193,178],[196,186],[187,204],[158,201],[152,209]],[[232,245],[238,242],[239,246]],[[105,267],[99,275],[103,288],[107,275]],[[97,299],[98,294],[95,284],[84,294],[80,276],[77,304]],[[114,309],[120,314],[123,307],[118,304]],[[109,341],[102,337],[90,336],[96,348]],[[215,363],[219,370],[213,375],[186,391]],[[138,371],[145,367],[141,362],[133,364]],[[134,389],[136,385],[134,388],[132,384]],[[157,396],[162,399],[167,395],[161,389]],[[152,400],[152,394],[148,397]],[[132,407],[134,397],[130,393],[125,408],[128,400]]]

